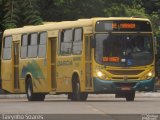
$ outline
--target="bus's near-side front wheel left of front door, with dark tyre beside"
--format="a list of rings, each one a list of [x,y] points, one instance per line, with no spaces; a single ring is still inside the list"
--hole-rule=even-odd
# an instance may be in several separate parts
[[[73,81],[73,92],[71,95],[71,100],[72,101],[85,101],[87,100],[88,94],[87,93],[82,93],[80,91],[80,83],[78,77],[75,78],[76,80]]]

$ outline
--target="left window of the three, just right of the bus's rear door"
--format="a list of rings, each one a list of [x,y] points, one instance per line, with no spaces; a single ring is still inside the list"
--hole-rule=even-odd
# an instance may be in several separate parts
[[[27,40],[28,40],[28,35],[27,34],[22,35],[21,58],[27,57],[27,43],[28,43]]]

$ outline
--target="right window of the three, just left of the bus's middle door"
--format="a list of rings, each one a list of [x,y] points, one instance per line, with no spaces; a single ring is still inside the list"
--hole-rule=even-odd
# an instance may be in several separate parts
[[[39,35],[39,47],[38,47],[38,57],[45,57],[46,55],[46,41],[47,41],[47,33],[42,32]]]

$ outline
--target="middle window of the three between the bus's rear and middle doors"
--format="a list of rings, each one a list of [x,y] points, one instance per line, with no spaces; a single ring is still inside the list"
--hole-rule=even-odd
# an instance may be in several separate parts
[[[35,58],[37,57],[37,38],[38,34],[37,33],[32,33],[29,36],[29,41],[28,41],[28,57],[30,58]]]

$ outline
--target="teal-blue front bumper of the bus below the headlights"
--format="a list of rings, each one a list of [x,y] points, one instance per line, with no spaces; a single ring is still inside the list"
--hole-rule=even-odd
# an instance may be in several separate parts
[[[93,78],[94,92],[96,93],[116,93],[118,91],[154,91],[155,78],[148,80],[113,81]]]

